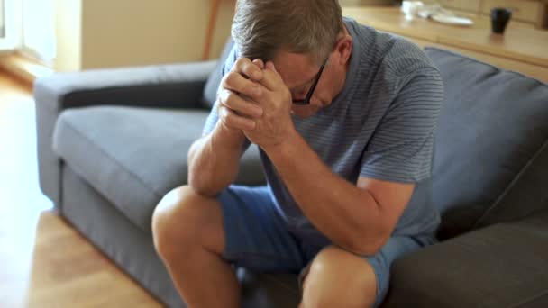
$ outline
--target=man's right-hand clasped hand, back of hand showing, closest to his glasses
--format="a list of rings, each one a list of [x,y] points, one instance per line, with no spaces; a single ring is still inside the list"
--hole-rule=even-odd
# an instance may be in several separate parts
[[[261,93],[254,96],[253,100],[262,108],[263,113],[262,116],[253,118],[254,127],[244,129],[243,133],[251,142],[267,150],[288,140],[294,126],[291,121],[292,100],[288,86],[272,62],[267,62],[262,72],[263,76],[258,80]]]

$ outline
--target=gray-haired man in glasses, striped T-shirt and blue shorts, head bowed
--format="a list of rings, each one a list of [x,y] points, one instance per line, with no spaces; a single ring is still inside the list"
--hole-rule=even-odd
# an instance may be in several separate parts
[[[237,307],[231,264],[300,273],[302,307],[368,307],[394,259],[434,242],[439,73],[415,45],[342,18],[336,0],[239,0],[235,47],[188,186],[153,216],[190,307]],[[268,186],[234,186],[247,147]],[[418,279],[418,277],[417,277]]]

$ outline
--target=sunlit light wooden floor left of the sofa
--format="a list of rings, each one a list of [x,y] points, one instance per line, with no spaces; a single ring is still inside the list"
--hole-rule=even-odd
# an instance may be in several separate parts
[[[0,71],[0,307],[160,307],[53,213],[30,86]]]

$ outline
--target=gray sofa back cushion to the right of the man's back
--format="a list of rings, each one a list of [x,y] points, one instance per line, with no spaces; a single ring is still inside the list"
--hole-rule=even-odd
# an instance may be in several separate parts
[[[433,188],[446,238],[477,225],[538,155],[548,139],[548,85],[450,51],[425,52],[440,69],[445,91]],[[541,177],[529,186],[546,186],[548,172]],[[517,214],[538,204],[513,206]],[[505,215],[513,213],[507,208]]]

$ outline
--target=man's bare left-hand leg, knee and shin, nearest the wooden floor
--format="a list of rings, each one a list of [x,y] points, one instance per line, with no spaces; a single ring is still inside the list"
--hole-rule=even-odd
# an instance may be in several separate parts
[[[240,285],[221,255],[221,205],[189,186],[166,195],[152,217],[154,245],[178,293],[191,308],[239,307]]]

